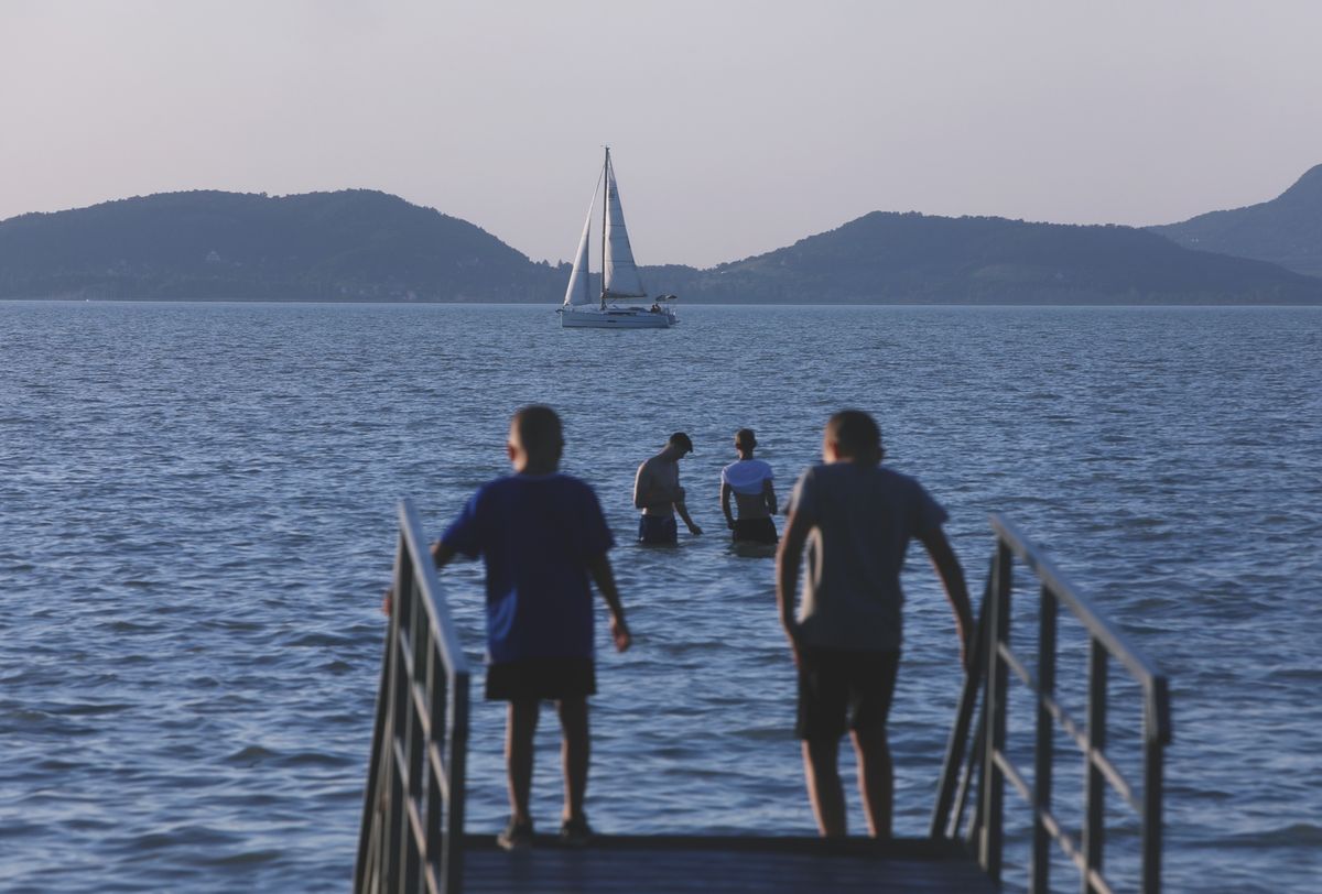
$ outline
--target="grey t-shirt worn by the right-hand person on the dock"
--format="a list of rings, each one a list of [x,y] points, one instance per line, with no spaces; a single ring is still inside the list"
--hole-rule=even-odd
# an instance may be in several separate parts
[[[812,526],[798,613],[804,642],[899,648],[904,553],[912,537],[941,527],[945,510],[908,475],[857,462],[809,467],[789,510]]]

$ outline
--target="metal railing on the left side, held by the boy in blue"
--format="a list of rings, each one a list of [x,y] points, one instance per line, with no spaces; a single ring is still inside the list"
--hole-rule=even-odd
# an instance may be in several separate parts
[[[356,894],[463,882],[468,662],[412,500],[399,503],[393,606],[362,804]]]

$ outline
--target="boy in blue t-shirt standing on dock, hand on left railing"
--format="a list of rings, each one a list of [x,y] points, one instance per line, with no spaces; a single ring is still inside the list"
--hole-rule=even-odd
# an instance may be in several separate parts
[[[542,700],[557,703],[563,733],[564,813],[561,839],[584,844],[583,812],[590,738],[587,697],[596,692],[592,660],[592,592],[611,611],[615,647],[629,647],[629,629],[605,553],[615,545],[592,489],[558,471],[564,438],[550,407],[524,407],[510,420],[506,450],[513,475],[483,485],[432,544],[438,568],[455,555],[486,564],[486,699],[509,701],[505,761],[509,827],[506,850],[533,842],[529,792],[533,734]]]

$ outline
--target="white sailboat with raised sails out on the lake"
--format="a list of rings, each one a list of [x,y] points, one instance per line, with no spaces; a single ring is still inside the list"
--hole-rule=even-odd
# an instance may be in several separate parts
[[[605,185],[600,193],[602,185]],[[588,276],[588,243],[592,236],[592,218],[596,213],[596,199],[602,197],[602,291],[592,293]],[[574,269],[570,273],[568,288],[564,289],[564,302],[559,308],[561,326],[566,329],[669,329],[680,322],[680,317],[669,306],[673,294],[658,294],[648,298],[639,276],[639,265],[633,263],[633,248],[629,247],[629,232],[624,227],[624,210],[620,206],[620,190],[615,182],[615,168],[611,166],[611,147],[605,148],[605,164],[602,177],[592,189],[592,202],[583,222],[583,235],[574,255]],[[650,306],[620,304],[620,301],[650,301]]]

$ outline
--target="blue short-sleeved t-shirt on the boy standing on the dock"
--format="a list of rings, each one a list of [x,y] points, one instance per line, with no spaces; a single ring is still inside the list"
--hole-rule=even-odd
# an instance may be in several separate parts
[[[486,564],[486,654],[592,658],[587,563],[615,545],[596,494],[562,474],[483,485],[440,541]]]

